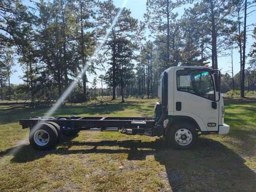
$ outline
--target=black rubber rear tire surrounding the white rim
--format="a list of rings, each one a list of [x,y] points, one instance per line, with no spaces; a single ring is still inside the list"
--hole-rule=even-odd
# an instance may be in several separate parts
[[[45,145],[39,145],[34,139],[34,135],[37,131],[44,130],[49,136],[49,141]],[[33,148],[37,150],[50,150],[55,147],[58,140],[58,132],[55,127],[49,123],[36,124],[29,132],[29,142]],[[47,137],[48,138],[48,137]]]

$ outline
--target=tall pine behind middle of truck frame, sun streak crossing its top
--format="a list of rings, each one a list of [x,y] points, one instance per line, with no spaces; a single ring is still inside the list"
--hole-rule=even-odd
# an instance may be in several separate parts
[[[139,37],[140,28],[138,26],[138,20],[131,17],[130,10],[114,6],[112,0],[106,2],[99,2],[99,15],[97,18],[100,37],[104,37],[107,32],[109,36],[106,40],[106,44],[103,48],[103,56],[101,56],[100,62],[109,62],[111,65],[112,74],[109,76],[112,80],[112,100],[116,99],[116,87],[117,81],[117,42],[119,38],[133,39],[134,41]],[[116,22],[115,22],[116,21]],[[114,23],[114,26],[112,24]]]

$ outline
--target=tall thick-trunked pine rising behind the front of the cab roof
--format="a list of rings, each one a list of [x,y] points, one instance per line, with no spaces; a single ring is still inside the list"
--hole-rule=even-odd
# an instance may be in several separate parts
[[[232,6],[229,0],[201,0],[185,12],[187,21],[193,26],[191,32],[211,46],[213,69],[218,69],[218,54],[225,50],[228,35],[232,32],[229,18]]]

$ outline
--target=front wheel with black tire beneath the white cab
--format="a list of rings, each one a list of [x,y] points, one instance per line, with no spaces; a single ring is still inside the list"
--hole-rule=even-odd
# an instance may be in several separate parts
[[[188,131],[186,131],[188,130]],[[185,134],[182,134],[184,131]],[[179,138],[179,140],[181,140],[181,142],[185,142],[185,144],[179,142],[179,140],[175,140],[175,134],[178,137],[178,132],[180,132],[180,134],[182,134],[181,136],[183,138]],[[192,134],[192,138],[189,138],[189,135]],[[175,149],[181,149],[181,150],[187,150],[187,149],[191,149],[195,146],[195,144],[197,143],[198,140],[198,134],[197,134],[197,130],[195,128],[195,126],[187,123],[187,122],[179,122],[177,124],[174,124],[167,135],[167,139],[169,144],[171,145],[172,148]],[[185,139],[185,140],[183,140]],[[188,143],[188,144],[186,144]]]

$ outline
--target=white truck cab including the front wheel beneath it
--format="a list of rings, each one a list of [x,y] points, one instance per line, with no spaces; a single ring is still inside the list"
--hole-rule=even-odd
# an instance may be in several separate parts
[[[230,126],[224,124],[219,75],[218,70],[204,66],[171,67],[161,75],[158,85],[161,102],[155,104],[155,114],[159,126],[163,122],[163,135],[176,142],[173,145],[177,148],[189,148],[192,143],[189,126],[199,135],[229,132]],[[173,127],[175,132],[170,136]]]

